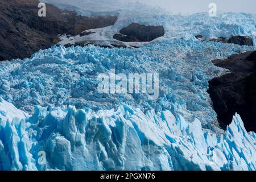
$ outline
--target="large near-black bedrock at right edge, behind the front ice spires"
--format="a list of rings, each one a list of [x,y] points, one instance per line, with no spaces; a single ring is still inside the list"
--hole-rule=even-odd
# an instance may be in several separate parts
[[[230,71],[209,81],[208,93],[218,119],[225,127],[238,113],[246,130],[256,131],[256,51],[214,60],[213,63]]]

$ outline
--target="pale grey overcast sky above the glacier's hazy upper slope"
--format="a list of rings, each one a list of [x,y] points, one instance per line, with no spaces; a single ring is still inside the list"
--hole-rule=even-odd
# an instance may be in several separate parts
[[[137,0],[130,0],[137,1]],[[139,0],[161,6],[172,13],[208,12],[209,3],[216,3],[218,11],[234,11],[256,14],[256,0]]]

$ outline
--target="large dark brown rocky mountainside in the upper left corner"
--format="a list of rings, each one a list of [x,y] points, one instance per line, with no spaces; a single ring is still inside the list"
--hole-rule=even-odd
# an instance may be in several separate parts
[[[117,16],[78,16],[46,4],[38,16],[38,0],[0,0],[0,61],[30,57],[59,42],[57,35],[78,35],[91,28],[113,25]]]

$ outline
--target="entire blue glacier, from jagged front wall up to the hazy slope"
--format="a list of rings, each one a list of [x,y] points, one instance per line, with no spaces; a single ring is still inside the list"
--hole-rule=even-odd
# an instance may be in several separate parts
[[[255,46],[194,37],[255,40],[255,15],[142,15],[120,15],[112,31],[138,20],[163,24],[166,35],[138,49],[53,46],[0,64],[0,170],[255,170],[255,133],[238,114],[221,130],[207,93],[227,72],[210,60]],[[98,93],[98,74],[112,68],[159,73],[158,100]]]

